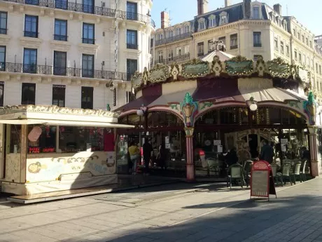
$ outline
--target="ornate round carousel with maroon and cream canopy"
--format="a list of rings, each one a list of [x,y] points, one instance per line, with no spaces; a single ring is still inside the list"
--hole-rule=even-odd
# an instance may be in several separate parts
[[[184,169],[187,180],[225,177],[223,154],[232,148],[239,161],[255,159],[267,140],[274,146],[274,162],[282,166],[286,159],[301,159],[307,147],[308,172],[316,177],[321,162],[310,84],[309,71],[281,59],[221,61],[215,55],[211,62],[156,65],[132,77],[137,99],[118,111],[120,123],[135,128],[120,130],[118,140],[131,133],[157,136],[155,149],[162,145],[168,154],[178,149],[176,156],[167,156],[167,167]]]

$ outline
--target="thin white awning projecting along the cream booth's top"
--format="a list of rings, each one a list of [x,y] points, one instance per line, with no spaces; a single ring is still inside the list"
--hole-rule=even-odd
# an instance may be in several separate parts
[[[45,120],[45,119],[8,119],[0,120],[0,123],[6,124],[42,124],[45,126],[90,126],[106,128],[134,128],[132,125],[120,123],[102,123],[90,121],[65,121],[65,120]]]

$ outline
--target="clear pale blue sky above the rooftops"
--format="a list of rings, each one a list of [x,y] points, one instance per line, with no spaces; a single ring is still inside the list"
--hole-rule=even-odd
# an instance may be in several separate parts
[[[238,4],[242,0],[231,0]],[[259,0],[260,1],[260,0]],[[321,0],[262,0],[269,6],[281,4],[282,15],[293,15],[302,25],[314,34],[322,34],[322,1]],[[209,11],[223,7],[225,0],[209,0]],[[287,8],[286,8],[287,6]],[[170,11],[172,25],[186,20],[193,20],[197,15],[197,0],[153,0],[152,18],[155,25],[161,26],[160,13],[167,8]]]

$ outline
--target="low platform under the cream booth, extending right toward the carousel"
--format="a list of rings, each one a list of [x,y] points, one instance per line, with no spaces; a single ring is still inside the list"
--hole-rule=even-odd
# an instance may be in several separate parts
[[[70,189],[66,191],[46,192],[41,194],[10,196],[7,198],[7,200],[14,203],[22,204],[41,203],[45,201],[72,199],[80,196],[106,194],[110,192],[125,191],[142,187],[153,187],[162,184],[171,184],[182,181],[183,180],[179,178],[171,177],[118,175],[118,184],[111,184],[99,187],[85,187],[81,189]]]

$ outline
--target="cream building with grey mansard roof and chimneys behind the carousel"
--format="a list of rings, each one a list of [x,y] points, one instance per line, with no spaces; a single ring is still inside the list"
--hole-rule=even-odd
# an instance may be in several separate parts
[[[259,1],[244,0],[224,8],[207,11],[208,1],[197,1],[194,20],[156,29],[151,41],[153,65],[170,64],[200,58],[213,51],[214,40],[222,41],[225,52],[257,60],[281,58],[310,72],[307,78],[318,100],[321,100],[321,38],[296,18],[284,16],[280,4],[273,8]],[[167,18],[167,14],[162,14]],[[168,21],[162,21],[167,23]]]

